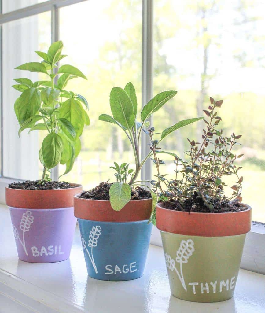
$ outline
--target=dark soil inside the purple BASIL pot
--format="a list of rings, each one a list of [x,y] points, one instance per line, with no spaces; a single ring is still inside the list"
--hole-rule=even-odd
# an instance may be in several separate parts
[[[40,180],[27,180],[25,182],[13,182],[8,185],[12,189],[25,189],[25,190],[49,190],[49,189],[67,189],[76,187],[69,182],[51,182]]]

